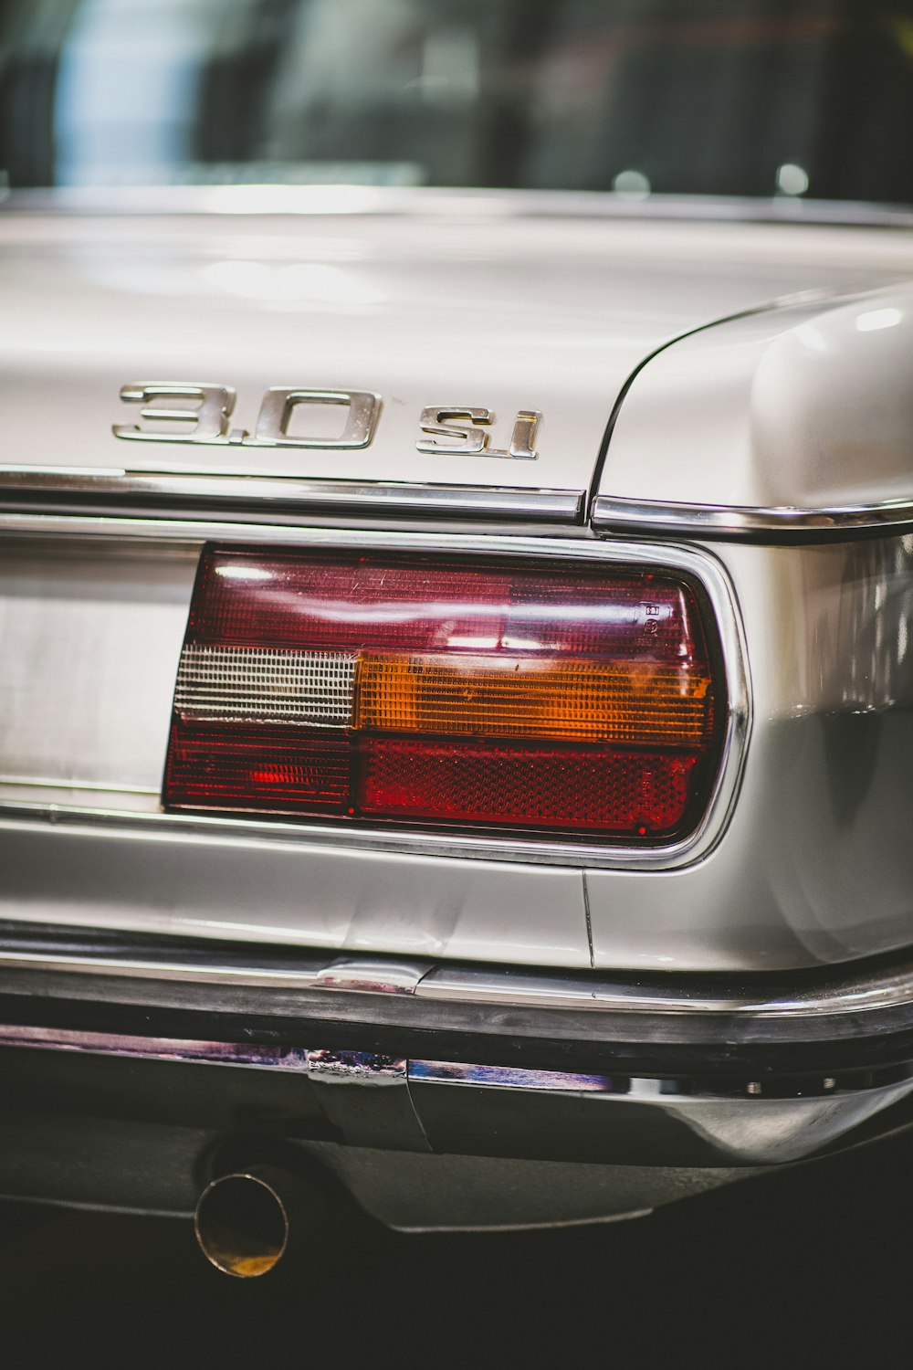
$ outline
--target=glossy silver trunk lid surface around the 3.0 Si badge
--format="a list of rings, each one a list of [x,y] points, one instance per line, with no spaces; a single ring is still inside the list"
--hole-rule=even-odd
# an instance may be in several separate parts
[[[4,464],[586,488],[657,347],[797,290],[913,274],[913,244],[886,230],[509,214],[480,193],[402,216],[0,215]],[[249,429],[271,385],[371,389],[383,412],[364,451],[118,441],[136,418],[120,385],[155,379],[234,386]],[[494,410],[498,447],[541,410],[539,459],[417,452],[431,404]]]

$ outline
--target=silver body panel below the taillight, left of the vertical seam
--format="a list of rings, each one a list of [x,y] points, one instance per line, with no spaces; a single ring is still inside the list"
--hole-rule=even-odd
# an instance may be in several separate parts
[[[579,870],[0,819],[0,918],[587,966]]]

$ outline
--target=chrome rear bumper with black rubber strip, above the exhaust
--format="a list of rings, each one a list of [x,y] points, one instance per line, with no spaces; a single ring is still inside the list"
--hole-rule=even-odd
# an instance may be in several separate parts
[[[49,1112],[63,1149],[75,1118],[101,1149],[178,1128],[209,1152],[727,1171],[906,1121],[913,960],[650,981],[7,925],[0,1044],[7,1193],[33,1122],[47,1170]],[[85,1164],[55,1182],[36,1196],[92,1201]]]

